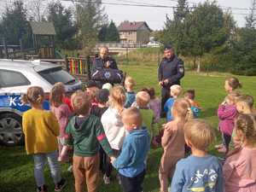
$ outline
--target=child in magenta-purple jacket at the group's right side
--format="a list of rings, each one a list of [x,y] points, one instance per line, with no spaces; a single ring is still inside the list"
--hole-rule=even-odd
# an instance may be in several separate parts
[[[226,96],[224,102],[218,106],[218,129],[222,133],[223,144],[216,146],[216,148],[218,148],[218,152],[225,154],[229,152],[229,145],[235,124],[234,121],[237,114],[235,102],[236,96],[231,93]]]

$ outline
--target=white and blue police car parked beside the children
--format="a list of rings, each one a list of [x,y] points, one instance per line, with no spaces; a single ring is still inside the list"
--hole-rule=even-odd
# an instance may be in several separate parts
[[[67,92],[82,88],[79,79],[61,66],[42,61],[0,60],[0,143],[16,145],[23,142],[22,113],[30,108],[21,103],[22,94],[30,86],[41,86],[49,96],[53,84],[62,82]],[[49,102],[44,102],[49,109]]]

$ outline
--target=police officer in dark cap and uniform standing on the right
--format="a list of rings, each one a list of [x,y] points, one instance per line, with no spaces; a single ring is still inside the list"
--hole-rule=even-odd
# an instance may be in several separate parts
[[[183,61],[174,55],[172,46],[166,46],[165,57],[160,62],[158,68],[158,80],[161,86],[161,116],[164,117],[164,105],[170,97],[170,87],[173,84],[180,84],[180,79],[184,76]]]

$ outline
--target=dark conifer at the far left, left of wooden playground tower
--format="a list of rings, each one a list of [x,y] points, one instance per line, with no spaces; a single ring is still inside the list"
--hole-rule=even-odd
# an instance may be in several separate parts
[[[25,48],[32,45],[32,32],[22,1],[17,0],[5,9],[0,26],[7,44],[20,44],[21,40]]]

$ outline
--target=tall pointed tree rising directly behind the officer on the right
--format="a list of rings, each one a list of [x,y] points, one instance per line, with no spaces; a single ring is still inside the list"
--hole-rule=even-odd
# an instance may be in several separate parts
[[[189,5],[187,0],[178,0],[177,9],[173,11],[173,20],[166,15],[166,26],[161,38],[164,44],[172,44],[177,55],[183,50],[185,18],[189,15]]]

